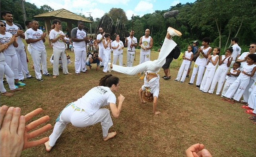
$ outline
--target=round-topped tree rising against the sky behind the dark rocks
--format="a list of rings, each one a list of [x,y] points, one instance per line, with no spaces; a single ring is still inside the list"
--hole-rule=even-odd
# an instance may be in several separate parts
[[[107,15],[113,19],[114,24],[116,24],[117,19],[119,19],[122,23],[126,23],[128,21],[126,13],[121,8],[111,8]]]

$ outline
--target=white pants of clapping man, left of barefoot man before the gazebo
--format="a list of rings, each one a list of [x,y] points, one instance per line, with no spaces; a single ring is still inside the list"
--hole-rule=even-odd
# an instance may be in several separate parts
[[[48,70],[47,70],[47,55],[46,55],[46,50],[42,50],[42,51],[38,51],[35,50],[35,48],[32,48],[32,53],[33,55],[32,59],[34,62],[34,68],[35,68],[35,77],[37,79],[42,78],[42,74],[40,72],[40,62],[42,63],[42,70],[43,70],[43,74],[47,74]]]

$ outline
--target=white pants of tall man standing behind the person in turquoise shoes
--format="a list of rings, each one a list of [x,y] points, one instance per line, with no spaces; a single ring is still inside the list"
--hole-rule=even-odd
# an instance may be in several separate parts
[[[19,61],[19,64],[18,64],[19,80],[24,80],[24,78],[31,77],[31,75],[29,75],[29,69],[27,68],[27,55],[25,52],[25,47],[23,49],[16,50],[16,54],[18,56],[18,61]]]

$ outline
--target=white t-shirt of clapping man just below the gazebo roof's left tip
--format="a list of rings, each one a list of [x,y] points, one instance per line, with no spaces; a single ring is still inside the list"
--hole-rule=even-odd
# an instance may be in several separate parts
[[[30,28],[30,29],[27,29],[25,33],[27,34],[27,38],[29,39],[38,39],[38,38],[41,38],[43,31],[41,29],[37,29],[37,31],[34,31],[32,28]],[[37,42],[31,43],[31,47],[33,47],[37,51],[45,50],[45,45],[43,40],[39,40]]]

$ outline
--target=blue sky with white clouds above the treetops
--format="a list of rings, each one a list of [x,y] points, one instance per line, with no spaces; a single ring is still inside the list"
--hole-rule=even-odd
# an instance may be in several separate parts
[[[168,10],[176,4],[193,3],[196,0],[25,0],[35,4],[37,8],[48,5],[54,10],[66,9],[73,13],[82,13],[85,17],[90,14],[95,18],[101,18],[111,8],[121,8],[126,12],[128,19],[134,16],[153,13],[155,10]]]

